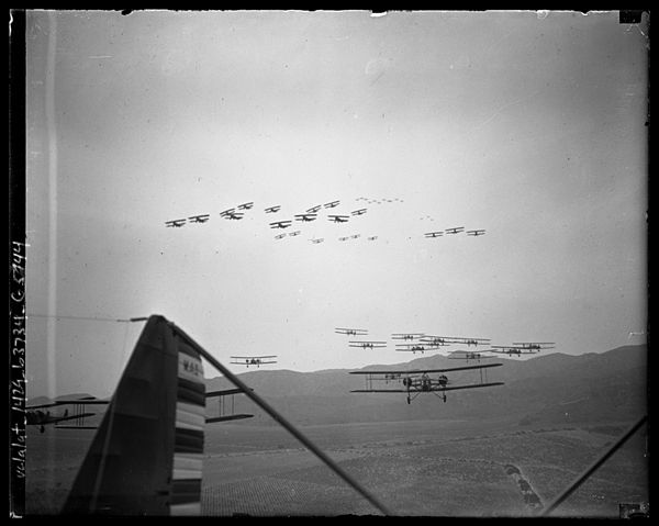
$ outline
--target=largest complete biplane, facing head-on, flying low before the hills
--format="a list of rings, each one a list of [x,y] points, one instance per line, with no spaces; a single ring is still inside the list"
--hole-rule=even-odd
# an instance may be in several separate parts
[[[455,391],[459,389],[477,389],[477,388],[490,388],[494,385],[503,385],[503,382],[488,382],[487,370],[483,376],[483,370],[491,367],[499,367],[502,363],[488,363],[482,366],[467,366],[467,367],[453,367],[447,369],[413,369],[407,371],[402,370],[390,370],[390,371],[351,371],[350,374],[364,374],[366,376],[366,389],[356,389],[350,391],[351,393],[406,393],[407,403],[411,403],[421,393],[433,393],[436,396],[446,402],[446,392]],[[446,374],[438,374],[433,377],[432,374],[454,372],[454,371],[466,371],[466,370],[480,370],[480,382],[462,385],[449,384],[448,377]],[[403,384],[402,389],[373,389],[373,381],[391,381],[394,379],[393,374],[400,374],[399,381]]]

